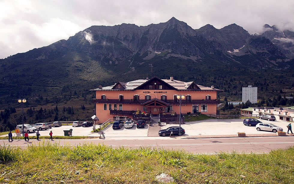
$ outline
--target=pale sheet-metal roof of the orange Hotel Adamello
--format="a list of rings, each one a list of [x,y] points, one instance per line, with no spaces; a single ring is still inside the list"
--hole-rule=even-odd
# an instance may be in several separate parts
[[[129,81],[129,82],[117,82],[116,84],[122,84],[122,86],[124,87],[124,89],[113,89],[113,87],[116,85],[111,85],[111,86],[106,86],[106,87],[102,87],[102,88],[97,88],[97,89],[92,89],[92,91],[98,91],[98,90],[111,90],[111,91],[119,91],[119,90],[136,90],[137,87],[145,84],[147,81],[150,81],[154,78],[157,77],[153,77],[151,79],[138,79],[135,81]],[[159,79],[159,78],[157,78]],[[194,83],[193,81],[191,82],[183,82],[183,81],[178,81],[178,80],[170,80],[170,79],[159,79],[165,83],[167,83],[168,85],[172,86],[173,88],[175,88],[175,90],[209,90],[209,91],[223,91],[223,90],[219,90],[219,89],[215,89],[215,88],[211,88],[211,87],[205,87],[205,86],[201,86],[198,85],[196,83]],[[188,87],[191,84],[196,84],[196,86],[198,87],[198,89],[188,89]]]

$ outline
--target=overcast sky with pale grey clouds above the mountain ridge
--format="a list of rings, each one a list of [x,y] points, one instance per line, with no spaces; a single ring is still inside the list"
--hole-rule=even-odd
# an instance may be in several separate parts
[[[171,17],[193,29],[236,23],[250,34],[262,26],[294,29],[293,0],[0,0],[0,58],[68,39],[92,25],[146,26]]]

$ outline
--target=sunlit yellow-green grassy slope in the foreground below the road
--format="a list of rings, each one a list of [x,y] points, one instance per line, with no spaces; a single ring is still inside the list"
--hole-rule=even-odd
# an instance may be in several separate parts
[[[182,151],[84,145],[0,149],[0,182],[158,183],[167,173],[174,183],[291,183],[294,148],[269,154],[191,155]],[[6,162],[4,162],[4,158]],[[46,159],[44,159],[46,158]],[[242,175],[242,176],[241,176]]]

